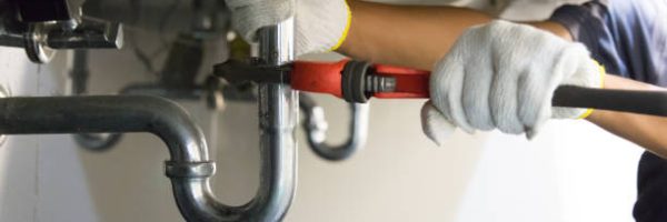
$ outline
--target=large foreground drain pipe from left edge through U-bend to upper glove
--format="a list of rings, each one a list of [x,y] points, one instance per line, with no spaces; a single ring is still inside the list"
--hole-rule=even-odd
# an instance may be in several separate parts
[[[293,21],[260,31],[261,59],[282,64],[293,58]],[[0,134],[150,132],[162,139],[171,160],[166,175],[182,216],[191,222],[281,221],[296,189],[295,128],[299,98],[287,84],[259,85],[260,184],[247,204],[216,200],[216,171],[206,139],[178,104],[157,97],[100,95],[0,99]]]

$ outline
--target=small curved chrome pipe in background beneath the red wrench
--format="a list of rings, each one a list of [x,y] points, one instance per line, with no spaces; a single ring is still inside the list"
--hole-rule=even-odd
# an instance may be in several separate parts
[[[349,159],[366,143],[368,134],[368,104],[350,103],[349,135],[342,144],[327,143],[328,123],[325,111],[315,100],[302,94],[299,107],[306,113],[303,130],[310,149],[320,158],[330,161]]]

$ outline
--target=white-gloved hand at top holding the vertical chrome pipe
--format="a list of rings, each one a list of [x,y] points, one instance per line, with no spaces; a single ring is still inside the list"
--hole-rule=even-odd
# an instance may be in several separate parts
[[[351,22],[345,0],[226,0],[235,29],[248,42],[262,27],[295,17],[297,56],[336,50],[342,44]]]

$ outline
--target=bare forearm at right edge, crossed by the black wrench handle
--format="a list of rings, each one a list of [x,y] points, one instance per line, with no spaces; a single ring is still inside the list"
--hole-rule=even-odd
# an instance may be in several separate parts
[[[607,75],[606,89],[619,90],[665,90],[651,84],[646,84],[615,75]],[[648,151],[667,158],[667,118],[596,110],[588,120],[603,129],[637,143]]]

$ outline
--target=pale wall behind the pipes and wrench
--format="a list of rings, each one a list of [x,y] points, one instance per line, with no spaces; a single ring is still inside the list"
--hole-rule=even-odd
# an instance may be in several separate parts
[[[38,67],[0,48],[0,83],[13,95],[63,94],[66,59]],[[92,63],[94,93],[152,79],[128,49],[94,52]],[[318,101],[331,138],[342,140],[346,105]],[[630,221],[640,153],[633,144],[584,121],[551,121],[534,141],[457,132],[435,148],[421,134],[421,103],[371,102],[368,145],[341,163],[317,159],[299,131],[299,186],[286,221]],[[243,203],[258,181],[255,105],[229,103],[217,118],[183,105],[219,141],[216,192]],[[10,137],[0,147],[0,221],[182,221],[167,158],[147,134],[106,153],[77,149],[69,135]]]

